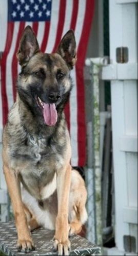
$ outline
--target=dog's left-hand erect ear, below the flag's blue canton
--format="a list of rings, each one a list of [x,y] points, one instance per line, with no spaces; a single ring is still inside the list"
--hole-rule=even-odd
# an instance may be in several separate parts
[[[40,51],[36,36],[30,26],[27,26],[23,32],[19,49],[17,52],[17,59],[20,65],[25,65],[29,59]]]

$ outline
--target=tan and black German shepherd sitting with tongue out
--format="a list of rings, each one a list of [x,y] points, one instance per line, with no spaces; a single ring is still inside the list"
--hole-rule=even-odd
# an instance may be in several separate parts
[[[3,133],[4,174],[17,229],[17,249],[34,249],[30,231],[55,229],[53,246],[69,255],[69,235],[87,219],[85,183],[70,165],[71,146],[64,107],[76,62],[74,32],[56,53],[44,54],[30,26],[23,32],[17,59],[22,67],[17,96]]]

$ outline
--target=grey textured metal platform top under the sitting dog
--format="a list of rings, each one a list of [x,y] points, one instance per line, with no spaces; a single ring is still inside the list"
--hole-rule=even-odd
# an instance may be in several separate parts
[[[52,251],[54,231],[37,229],[32,232],[35,251],[29,253],[17,252],[17,233],[13,222],[0,223],[0,250],[6,255],[57,255]],[[100,253],[100,247],[91,244],[80,235],[70,237],[70,255],[93,255]]]

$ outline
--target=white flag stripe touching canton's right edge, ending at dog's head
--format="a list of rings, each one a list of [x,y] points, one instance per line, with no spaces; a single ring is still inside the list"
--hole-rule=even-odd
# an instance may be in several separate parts
[[[60,0],[53,0],[52,10],[51,10],[50,31],[49,31],[47,48],[46,48],[47,53],[52,52],[55,44],[59,10],[60,10]]]

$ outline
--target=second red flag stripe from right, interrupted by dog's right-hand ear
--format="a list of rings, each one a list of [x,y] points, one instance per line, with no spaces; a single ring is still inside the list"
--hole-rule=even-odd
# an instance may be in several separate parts
[[[77,13],[78,13],[78,0],[73,0],[73,8],[72,8],[72,17],[71,17],[70,29],[75,30]],[[69,101],[68,101],[68,103],[65,107],[65,115],[66,115],[66,121],[67,121],[67,124],[68,124],[68,129],[70,131],[70,103],[69,103]]]

